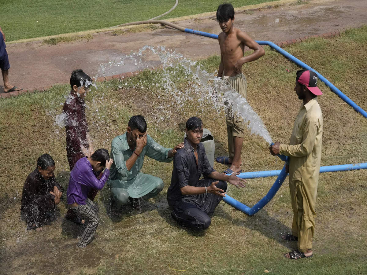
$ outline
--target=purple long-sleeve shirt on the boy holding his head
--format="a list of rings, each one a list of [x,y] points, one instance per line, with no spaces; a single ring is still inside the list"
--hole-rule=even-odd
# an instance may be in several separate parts
[[[101,179],[97,179],[87,157],[79,159],[70,173],[69,186],[66,192],[68,204],[74,202],[79,205],[86,204],[88,192],[91,188],[101,190],[105,186],[109,175],[110,170],[106,168]]]

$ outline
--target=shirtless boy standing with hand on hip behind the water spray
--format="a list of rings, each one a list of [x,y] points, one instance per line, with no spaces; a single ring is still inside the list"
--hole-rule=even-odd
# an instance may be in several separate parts
[[[231,4],[222,4],[218,7],[217,21],[222,29],[222,32],[218,35],[221,48],[218,77],[221,77],[247,100],[247,82],[242,73],[242,66],[244,63],[259,59],[265,55],[265,51],[245,32],[233,26],[235,10]],[[253,49],[254,52],[243,56],[245,46]],[[226,110],[226,124],[229,158],[218,157],[216,161],[222,164],[231,164],[228,172],[231,172],[231,170],[237,172],[241,166],[241,150],[246,125],[240,115],[233,114],[231,107]]]

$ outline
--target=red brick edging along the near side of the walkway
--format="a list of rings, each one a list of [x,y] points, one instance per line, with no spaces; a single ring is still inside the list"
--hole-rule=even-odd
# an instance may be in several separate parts
[[[286,47],[288,45],[291,44],[295,44],[295,43],[300,43],[300,42],[304,42],[305,40],[307,40],[308,38],[311,37],[323,37],[323,38],[330,38],[330,37],[334,37],[334,36],[339,36],[340,32],[338,30],[332,31],[332,32],[328,32],[328,33],[323,33],[323,34],[315,34],[315,35],[310,35],[310,36],[305,36],[305,37],[301,37],[301,38],[296,38],[296,39],[292,39],[292,40],[288,40],[288,41],[282,41],[282,42],[275,42],[274,44],[276,44],[279,47]],[[161,66],[158,66],[161,67]],[[158,67],[154,67],[152,68],[152,70],[157,69]],[[134,72],[127,72],[127,73],[122,73],[122,74],[115,74],[113,76],[101,76],[98,77],[96,79],[96,82],[103,82],[103,81],[109,81],[112,79],[123,79],[123,78],[128,78],[128,77],[132,77],[132,76],[137,76],[139,73],[141,73],[141,71],[134,71]],[[94,79],[93,79],[94,80]],[[46,86],[46,87],[40,87],[40,88],[36,88],[33,90],[22,90],[22,91],[14,91],[14,92],[10,92],[10,93],[1,93],[0,94],[0,98],[10,98],[12,96],[18,96],[18,95],[23,95],[23,94],[33,94],[36,92],[44,92],[47,91],[49,89],[51,89],[54,85],[51,86]]]

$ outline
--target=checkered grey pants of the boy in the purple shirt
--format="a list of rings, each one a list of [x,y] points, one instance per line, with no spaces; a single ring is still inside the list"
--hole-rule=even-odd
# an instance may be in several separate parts
[[[78,238],[80,237],[80,239],[76,246],[86,247],[86,245],[90,243],[98,227],[98,206],[90,199],[87,199],[86,204],[71,207],[71,209],[78,217],[85,221],[78,234]]]

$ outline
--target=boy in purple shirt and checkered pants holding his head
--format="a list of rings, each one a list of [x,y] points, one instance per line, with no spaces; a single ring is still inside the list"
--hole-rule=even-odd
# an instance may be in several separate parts
[[[90,243],[98,227],[98,206],[88,198],[92,188],[101,190],[110,175],[112,158],[106,149],[98,149],[90,158],[79,159],[70,173],[67,190],[69,208],[85,222],[77,238],[77,247],[86,247]],[[106,167],[101,179],[97,179],[93,172],[102,171]]]

